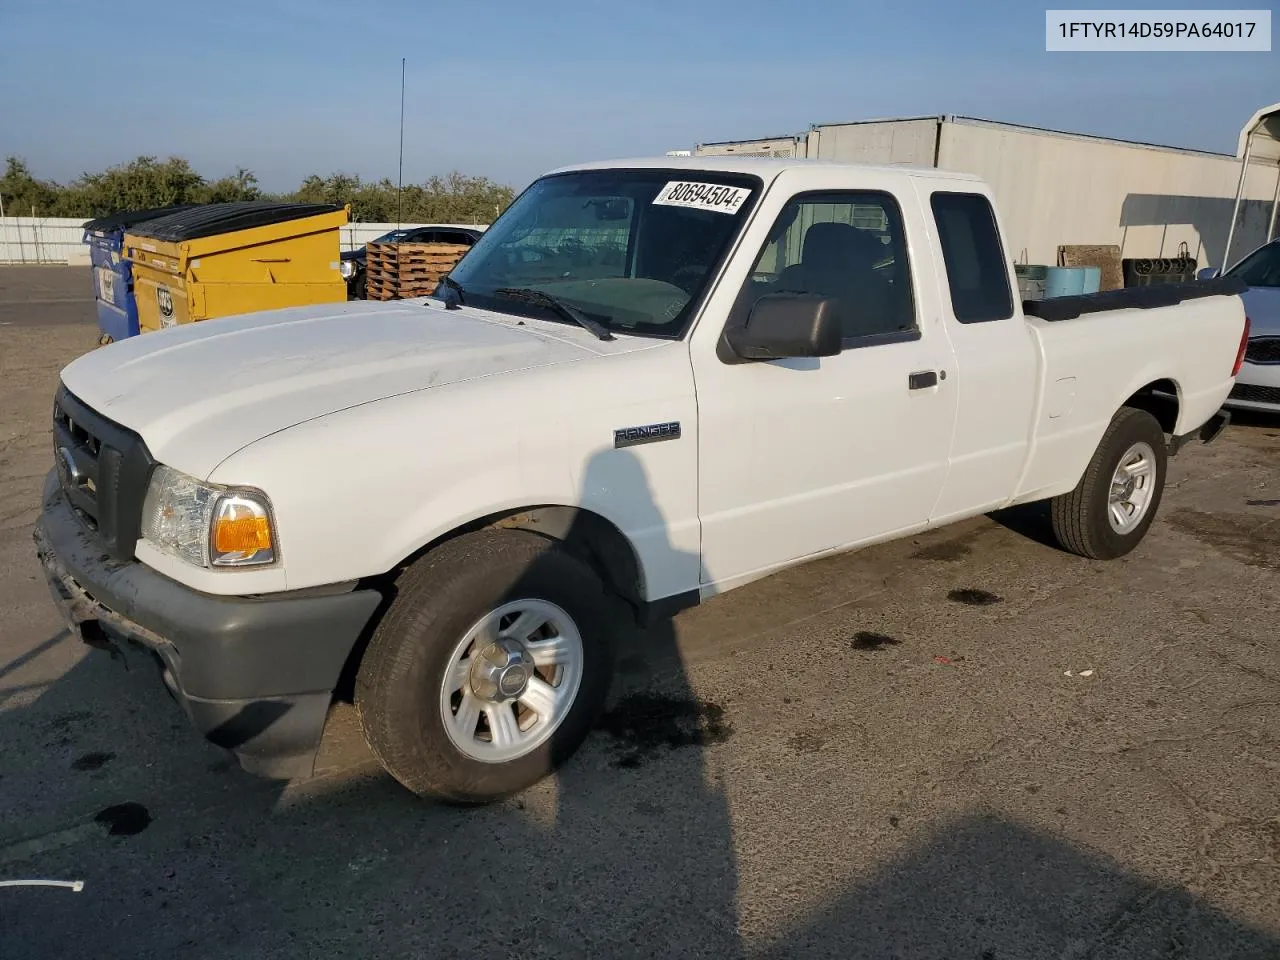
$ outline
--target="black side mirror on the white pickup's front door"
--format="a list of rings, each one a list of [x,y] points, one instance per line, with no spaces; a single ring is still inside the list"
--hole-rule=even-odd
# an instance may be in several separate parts
[[[746,326],[727,332],[744,360],[833,357],[844,342],[836,301],[815,293],[769,293],[755,301]]]

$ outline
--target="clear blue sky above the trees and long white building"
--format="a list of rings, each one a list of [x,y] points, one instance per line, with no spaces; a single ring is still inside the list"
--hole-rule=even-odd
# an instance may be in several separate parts
[[[522,187],[566,163],[940,113],[1231,152],[1280,99],[1280,54],[1048,54],[1044,6],[1002,1],[0,0],[0,154],[38,175],[175,154],[271,189],[394,179],[401,56],[406,182]]]

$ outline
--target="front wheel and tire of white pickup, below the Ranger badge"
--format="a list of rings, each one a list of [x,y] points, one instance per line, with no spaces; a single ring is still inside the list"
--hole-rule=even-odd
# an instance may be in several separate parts
[[[396,591],[356,677],[365,739],[396,780],[488,803],[577,750],[613,675],[590,567],[538,534],[483,530],[428,553]]]

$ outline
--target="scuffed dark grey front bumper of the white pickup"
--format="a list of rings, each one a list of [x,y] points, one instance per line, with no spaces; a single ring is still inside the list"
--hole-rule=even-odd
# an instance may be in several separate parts
[[[45,481],[36,552],[68,628],[93,646],[155,654],[192,724],[268,777],[310,776],[333,690],[381,595],[339,586],[214,596],[137,561],[114,561]]]

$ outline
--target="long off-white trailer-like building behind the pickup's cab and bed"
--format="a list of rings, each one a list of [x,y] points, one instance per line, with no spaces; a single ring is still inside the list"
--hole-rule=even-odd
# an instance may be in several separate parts
[[[795,137],[700,143],[698,156],[801,156],[915,164],[991,183],[1019,262],[1056,264],[1064,243],[1114,243],[1123,257],[1172,257],[1181,244],[1220,266],[1240,177],[1231,154],[980,120],[916,116],[810,127]],[[1233,260],[1266,239],[1280,166],[1251,163]]]

